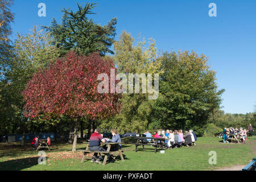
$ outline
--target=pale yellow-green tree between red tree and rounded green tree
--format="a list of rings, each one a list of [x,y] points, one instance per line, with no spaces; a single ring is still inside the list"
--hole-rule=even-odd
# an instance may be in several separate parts
[[[148,43],[148,46],[146,46]],[[123,31],[114,43],[114,60],[119,73],[161,73],[162,61],[155,46],[155,41],[139,40],[133,46],[134,38]],[[154,77],[154,76],[153,76]],[[134,85],[133,85],[134,86]],[[150,122],[154,100],[148,100],[148,94],[122,94],[122,111],[113,119],[113,125],[121,132],[142,132]],[[105,125],[104,125],[105,126]],[[112,126],[113,127],[113,126]]]

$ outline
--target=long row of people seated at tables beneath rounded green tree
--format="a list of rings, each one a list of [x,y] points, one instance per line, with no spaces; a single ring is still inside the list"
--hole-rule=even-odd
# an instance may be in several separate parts
[[[168,149],[171,148],[178,148],[181,146],[192,146],[196,145],[196,134],[193,132],[193,130],[185,131],[183,134],[182,130],[162,130],[162,131],[155,131],[154,135],[149,133],[148,131],[144,133],[146,137],[154,137],[154,138],[165,138],[165,147]],[[147,139],[148,141],[151,141],[151,139]]]

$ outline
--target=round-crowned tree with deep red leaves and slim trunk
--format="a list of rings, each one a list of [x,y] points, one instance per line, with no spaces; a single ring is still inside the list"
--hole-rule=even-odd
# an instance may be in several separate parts
[[[89,56],[69,52],[48,68],[38,71],[23,91],[24,115],[35,118],[39,114],[67,114],[75,122],[72,151],[76,151],[77,118],[87,115],[90,119],[107,118],[120,109],[120,94],[98,93],[97,76],[106,73],[110,77],[113,61],[98,53]],[[110,78],[109,78],[110,80]],[[110,83],[109,83],[110,88]]]

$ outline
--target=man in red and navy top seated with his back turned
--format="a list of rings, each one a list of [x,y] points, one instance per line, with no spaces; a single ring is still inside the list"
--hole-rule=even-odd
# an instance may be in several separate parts
[[[89,150],[90,151],[106,151],[103,147],[100,146],[100,142],[105,143],[106,140],[103,138],[103,135],[100,134],[100,130],[95,129],[94,133],[92,135],[90,135]],[[108,158],[109,158],[109,156],[110,155],[108,154]],[[97,158],[97,152],[94,152],[93,158],[90,162],[91,163],[96,162],[98,164],[101,164],[101,160],[103,160],[102,156],[100,155]]]

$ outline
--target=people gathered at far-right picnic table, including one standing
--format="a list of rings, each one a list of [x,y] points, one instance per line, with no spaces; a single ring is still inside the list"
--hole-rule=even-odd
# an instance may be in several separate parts
[[[223,142],[224,143],[229,143],[229,138],[230,135],[236,135],[237,138],[241,139],[242,143],[246,143],[245,141],[247,140],[247,132],[249,131],[249,136],[252,137],[253,136],[253,127],[251,126],[251,124],[248,127],[248,130],[243,129],[242,127],[240,127],[240,129],[238,129],[237,127],[234,129],[233,127],[229,127],[226,128],[222,131],[223,134]]]

